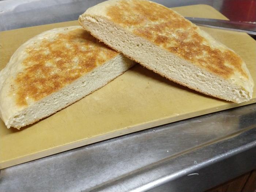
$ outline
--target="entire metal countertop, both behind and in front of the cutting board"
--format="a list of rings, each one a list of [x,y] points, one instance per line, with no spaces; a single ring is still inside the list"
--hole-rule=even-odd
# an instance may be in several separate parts
[[[2,0],[0,31],[76,20],[101,0]],[[224,1],[164,1],[167,7]],[[226,11],[227,13],[228,11]],[[204,191],[256,169],[256,104],[190,118],[2,169],[1,192]]]

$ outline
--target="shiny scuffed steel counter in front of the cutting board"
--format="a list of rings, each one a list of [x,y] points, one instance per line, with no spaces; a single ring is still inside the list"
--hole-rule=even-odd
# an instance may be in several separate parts
[[[186,191],[184,183],[195,182],[198,186],[189,191],[198,191],[256,167],[256,153],[243,155],[256,152],[255,138],[256,104],[252,104],[3,169],[0,191],[26,191],[28,182],[34,191],[147,191],[160,185]],[[237,165],[244,158],[246,163]],[[200,183],[210,174],[204,169],[214,173],[230,161],[232,166],[223,167],[221,176]],[[233,166],[236,170],[230,172]]]

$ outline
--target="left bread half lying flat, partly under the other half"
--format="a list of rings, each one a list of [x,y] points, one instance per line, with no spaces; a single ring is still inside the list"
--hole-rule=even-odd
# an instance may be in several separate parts
[[[0,116],[7,128],[34,123],[133,64],[80,26],[45,31],[20,46],[0,72]]]

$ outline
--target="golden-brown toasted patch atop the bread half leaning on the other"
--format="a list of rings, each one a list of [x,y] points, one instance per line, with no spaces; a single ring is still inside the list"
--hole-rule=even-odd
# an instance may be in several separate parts
[[[161,48],[228,79],[242,69],[242,59],[230,49],[215,48],[199,28],[163,5],[146,0],[120,0],[106,10],[108,18]]]

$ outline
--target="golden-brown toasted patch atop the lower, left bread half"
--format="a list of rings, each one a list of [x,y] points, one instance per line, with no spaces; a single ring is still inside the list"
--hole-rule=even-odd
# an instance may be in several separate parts
[[[18,106],[26,106],[27,99],[46,97],[118,54],[83,29],[60,33],[52,41],[44,39],[26,53],[25,69],[17,74],[11,93]]]

